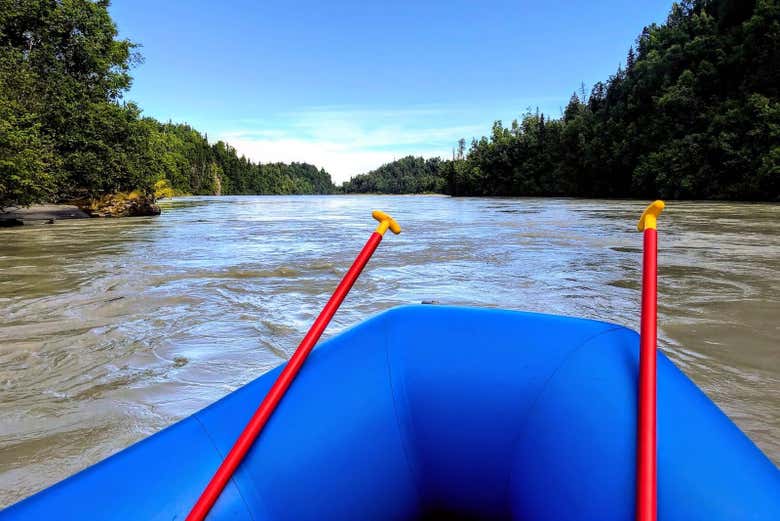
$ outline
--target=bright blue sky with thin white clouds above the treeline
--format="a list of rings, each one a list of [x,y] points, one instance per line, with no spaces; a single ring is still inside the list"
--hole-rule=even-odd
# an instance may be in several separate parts
[[[671,1],[114,0],[142,45],[128,99],[261,162],[336,182],[527,108],[559,116]]]

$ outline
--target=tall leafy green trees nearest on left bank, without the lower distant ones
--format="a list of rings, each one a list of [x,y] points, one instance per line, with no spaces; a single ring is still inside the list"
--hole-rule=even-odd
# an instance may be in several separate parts
[[[138,109],[119,103],[134,45],[116,39],[106,5],[0,0],[2,204],[148,188]]]

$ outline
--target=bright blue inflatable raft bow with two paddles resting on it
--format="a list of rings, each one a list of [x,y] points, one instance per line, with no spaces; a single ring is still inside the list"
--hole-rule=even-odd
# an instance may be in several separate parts
[[[631,520],[636,333],[439,306],[323,343],[209,519]],[[0,513],[184,519],[279,369]],[[658,355],[658,518],[780,520],[780,471]]]

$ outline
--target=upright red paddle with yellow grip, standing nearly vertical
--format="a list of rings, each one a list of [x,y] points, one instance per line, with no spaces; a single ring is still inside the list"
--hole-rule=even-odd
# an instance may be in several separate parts
[[[642,261],[642,324],[639,330],[639,415],[637,434],[636,519],[656,521],[656,343],[658,315],[658,233],[663,201],[650,204],[639,218],[644,232]]]

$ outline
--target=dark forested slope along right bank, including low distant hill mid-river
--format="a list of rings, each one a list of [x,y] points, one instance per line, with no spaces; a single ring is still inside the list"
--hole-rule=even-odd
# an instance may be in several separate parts
[[[777,0],[676,3],[560,117],[497,121],[452,160],[403,158],[344,190],[779,200],[779,53]]]

